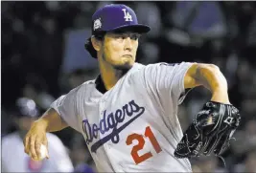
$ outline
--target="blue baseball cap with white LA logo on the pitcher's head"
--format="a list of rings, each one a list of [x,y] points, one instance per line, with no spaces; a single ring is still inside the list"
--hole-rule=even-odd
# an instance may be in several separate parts
[[[92,15],[93,35],[122,30],[146,33],[151,27],[139,24],[135,12],[123,4],[106,5]]]

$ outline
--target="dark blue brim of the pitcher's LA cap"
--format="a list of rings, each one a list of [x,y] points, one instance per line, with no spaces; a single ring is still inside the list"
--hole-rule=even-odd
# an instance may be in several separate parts
[[[123,25],[105,32],[138,32],[147,33],[151,31],[151,27],[142,24],[136,25]]]

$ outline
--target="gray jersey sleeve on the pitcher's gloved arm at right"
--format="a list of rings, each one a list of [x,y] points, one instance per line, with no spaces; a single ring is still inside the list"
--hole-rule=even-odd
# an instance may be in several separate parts
[[[145,69],[147,90],[161,103],[177,106],[185,97],[184,76],[194,63],[157,63]]]

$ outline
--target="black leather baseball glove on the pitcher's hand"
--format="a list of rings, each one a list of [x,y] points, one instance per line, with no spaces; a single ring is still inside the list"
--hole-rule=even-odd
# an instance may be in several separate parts
[[[233,105],[215,101],[205,103],[177,144],[175,157],[209,156],[212,152],[220,156],[229,146],[240,119],[239,110]]]

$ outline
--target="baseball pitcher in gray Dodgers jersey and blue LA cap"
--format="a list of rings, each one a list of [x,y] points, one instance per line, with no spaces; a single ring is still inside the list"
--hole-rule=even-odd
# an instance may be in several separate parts
[[[71,126],[99,172],[191,172],[189,158],[221,155],[240,121],[225,77],[213,64],[135,63],[139,37],[150,30],[125,5],[96,11],[85,49],[100,75],[53,102],[24,138],[25,152],[39,160],[46,132]],[[185,89],[199,85],[212,97],[183,134],[178,105]]]

